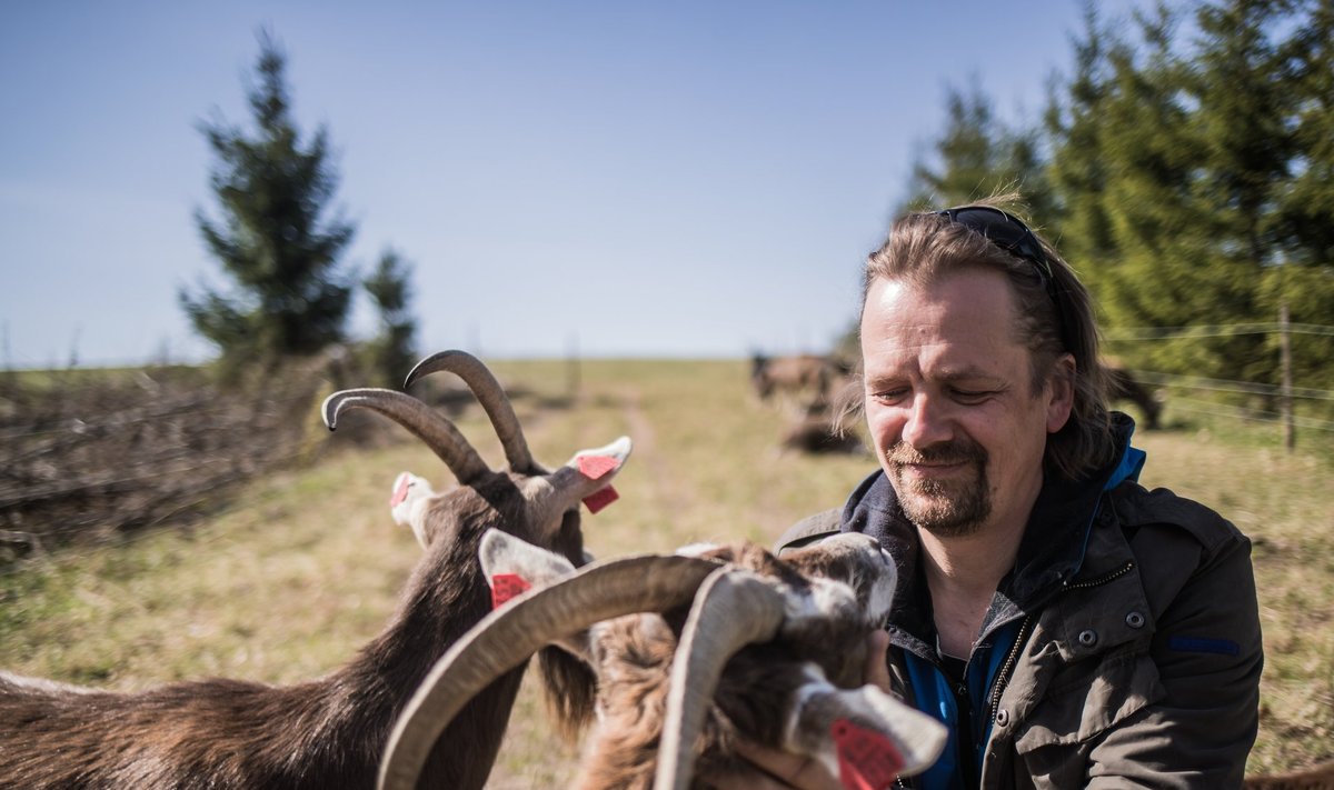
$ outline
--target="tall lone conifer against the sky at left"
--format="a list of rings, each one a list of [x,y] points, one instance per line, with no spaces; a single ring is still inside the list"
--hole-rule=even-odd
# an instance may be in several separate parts
[[[196,210],[195,222],[231,287],[181,290],[180,302],[232,370],[342,342],[351,306],[339,258],[355,228],[340,215],[324,219],[338,187],[328,133],[321,125],[301,143],[284,67],[279,45],[260,33],[259,81],[248,91],[253,132],[220,119],[200,124],[217,157],[209,185],[220,219]]]

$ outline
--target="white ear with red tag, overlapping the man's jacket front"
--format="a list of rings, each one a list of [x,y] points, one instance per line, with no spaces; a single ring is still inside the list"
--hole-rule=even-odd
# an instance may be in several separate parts
[[[796,702],[784,747],[844,778],[879,779],[887,770],[911,777],[931,767],[944,749],[944,725],[872,685],[838,689],[820,677],[791,698]]]

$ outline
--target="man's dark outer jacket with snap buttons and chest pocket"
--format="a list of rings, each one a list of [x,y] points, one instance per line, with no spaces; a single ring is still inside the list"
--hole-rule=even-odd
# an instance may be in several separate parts
[[[920,667],[938,666],[935,627],[915,528],[883,474],[778,548],[839,531],[876,535],[894,554],[894,691],[939,715],[910,678],[911,666],[920,687]],[[1003,646],[974,690],[982,787],[1241,786],[1258,723],[1259,614],[1250,542],[1211,510],[1117,470],[1045,486],[982,634]]]

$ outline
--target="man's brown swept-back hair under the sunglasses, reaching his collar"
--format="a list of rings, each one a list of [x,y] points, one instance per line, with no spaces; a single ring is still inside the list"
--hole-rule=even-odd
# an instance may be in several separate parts
[[[1015,215],[1017,203],[1017,195],[999,195],[970,206]],[[1062,354],[1075,359],[1074,408],[1066,424],[1047,438],[1045,459],[1049,471],[1081,479],[1113,460],[1118,450],[1107,410],[1107,371],[1098,356],[1098,324],[1089,291],[1046,240],[1037,234],[1033,239],[1050,266],[1051,291],[1037,263],[987,240],[967,224],[935,212],[904,215],[894,223],[884,244],[867,258],[860,311],[866,311],[867,292],[879,279],[924,286],[970,267],[1005,274],[1014,294],[1015,332],[1030,351],[1034,396]],[[1061,304],[1054,304],[1053,298]]]

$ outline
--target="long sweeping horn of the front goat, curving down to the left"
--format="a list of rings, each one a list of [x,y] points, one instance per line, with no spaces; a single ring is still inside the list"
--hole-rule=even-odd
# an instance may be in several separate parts
[[[492,611],[436,661],[399,714],[380,762],[380,790],[416,787],[431,747],[459,710],[544,645],[606,619],[684,606],[718,567],[698,556],[612,559]]]

